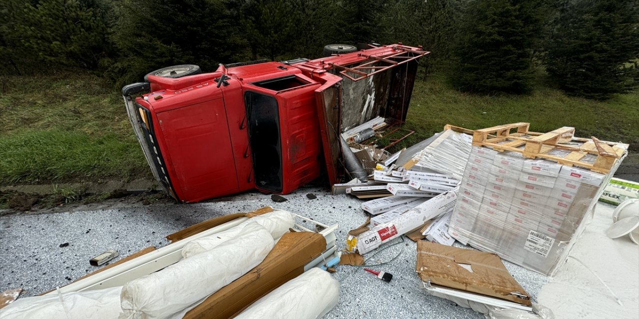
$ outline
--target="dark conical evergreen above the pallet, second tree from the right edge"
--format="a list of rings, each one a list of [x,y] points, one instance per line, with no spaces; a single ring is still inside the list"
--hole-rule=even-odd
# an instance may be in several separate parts
[[[472,1],[453,49],[452,83],[475,93],[527,93],[539,19],[531,0]]]

